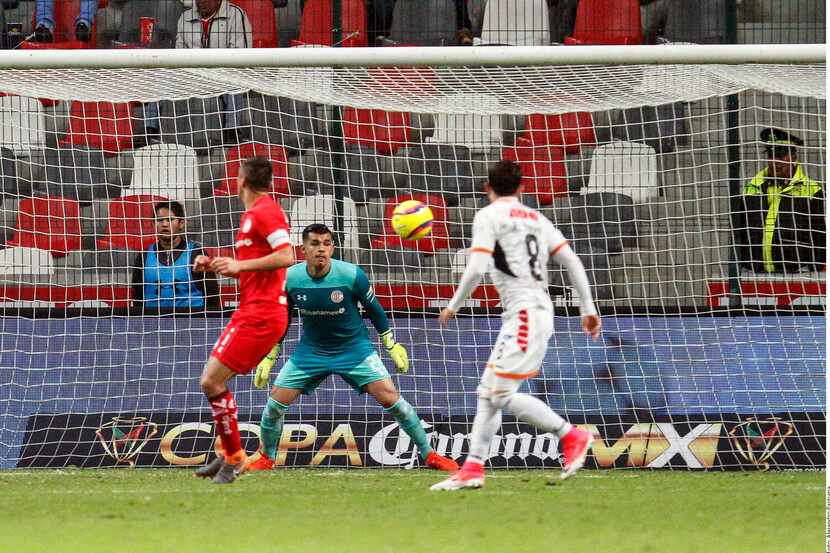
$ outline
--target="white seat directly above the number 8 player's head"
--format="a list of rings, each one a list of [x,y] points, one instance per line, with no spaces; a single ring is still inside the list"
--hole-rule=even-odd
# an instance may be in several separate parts
[[[435,132],[426,142],[458,144],[474,153],[486,153],[501,147],[501,104],[491,94],[450,94],[436,100]],[[481,113],[465,113],[470,106],[486,110]]]

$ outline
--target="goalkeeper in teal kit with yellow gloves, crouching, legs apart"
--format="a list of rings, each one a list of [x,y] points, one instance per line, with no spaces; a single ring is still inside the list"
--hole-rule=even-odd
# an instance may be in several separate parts
[[[303,319],[303,335],[291,358],[280,370],[271,397],[262,412],[260,433],[262,455],[248,470],[274,467],[282,421],[288,407],[300,396],[310,394],[331,374],[340,375],[358,392],[374,397],[400,428],[418,446],[426,466],[458,470],[452,459],[442,457],[429,444],[415,409],[398,394],[389,372],[369,341],[357,304],[363,306],[378,331],[387,353],[399,372],[409,370],[406,349],[392,336],[386,313],[369,286],[366,273],[352,263],[333,260],[334,241],[326,225],[313,224],[303,230],[305,263],[288,269],[285,292]],[[254,384],[264,388],[281,343],[260,362]]]

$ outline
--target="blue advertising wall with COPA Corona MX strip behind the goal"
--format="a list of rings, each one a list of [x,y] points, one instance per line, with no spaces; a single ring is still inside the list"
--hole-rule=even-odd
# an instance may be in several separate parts
[[[198,376],[225,322],[0,318],[0,467],[203,462],[212,429]],[[595,466],[824,466],[824,317],[605,323],[604,341],[591,343],[577,318],[557,317],[543,374],[530,383],[554,409],[591,425],[600,438]],[[414,360],[397,383],[437,449],[454,456],[466,451],[480,366],[499,327],[486,317],[458,324],[460,332],[442,335],[435,319],[395,320]],[[297,332],[292,326],[289,351]],[[266,392],[252,389],[250,378],[233,388],[253,451]],[[281,463],[415,462],[394,420],[337,379],[290,414]],[[557,466],[556,439],[508,420],[490,462]]]

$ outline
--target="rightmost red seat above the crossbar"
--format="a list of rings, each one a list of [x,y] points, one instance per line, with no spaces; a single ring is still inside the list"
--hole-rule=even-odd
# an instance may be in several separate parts
[[[579,0],[565,44],[642,44],[639,0]]]

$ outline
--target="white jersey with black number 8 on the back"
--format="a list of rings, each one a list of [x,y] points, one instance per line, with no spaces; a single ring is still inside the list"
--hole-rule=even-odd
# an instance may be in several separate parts
[[[491,276],[506,313],[534,305],[552,309],[548,259],[566,243],[544,215],[513,196],[481,209],[473,221],[471,251],[493,252]]]

